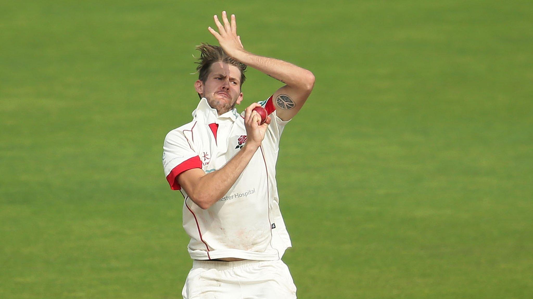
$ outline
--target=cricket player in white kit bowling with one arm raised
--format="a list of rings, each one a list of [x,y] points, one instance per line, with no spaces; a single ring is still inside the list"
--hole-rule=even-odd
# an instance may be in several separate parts
[[[183,298],[296,298],[281,257],[291,246],[279,209],[276,161],[279,140],[314,85],[313,74],[294,64],[247,52],[235,15],[214,16],[209,32],[220,46],[201,44],[200,97],[191,122],[170,131],[163,167],[184,197],[183,227],[191,240],[192,269]],[[241,86],[246,67],[283,82],[270,97],[249,105]],[[253,111],[263,107],[268,117]]]

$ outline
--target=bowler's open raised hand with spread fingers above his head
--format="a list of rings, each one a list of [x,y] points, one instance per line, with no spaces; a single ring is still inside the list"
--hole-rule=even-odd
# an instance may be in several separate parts
[[[240,41],[240,36],[237,35],[237,21],[235,20],[235,14],[231,15],[231,22],[228,21],[228,15],[225,11],[222,12],[222,25],[219,21],[219,17],[215,14],[213,16],[215,25],[219,29],[217,32],[211,27],[207,27],[207,30],[219,41],[220,46],[230,57],[235,58],[239,51],[244,51],[243,43]]]

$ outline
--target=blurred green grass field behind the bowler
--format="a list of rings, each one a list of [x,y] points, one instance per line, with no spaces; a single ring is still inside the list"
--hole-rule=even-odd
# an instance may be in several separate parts
[[[181,298],[160,157],[223,9],[317,78],[278,161],[299,298],[531,298],[533,3],[514,0],[1,1],[0,298]],[[247,77],[241,106],[280,86]]]

